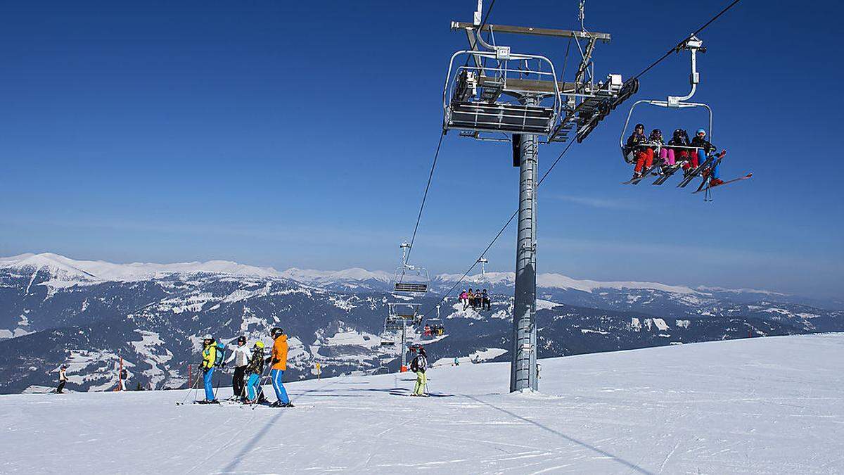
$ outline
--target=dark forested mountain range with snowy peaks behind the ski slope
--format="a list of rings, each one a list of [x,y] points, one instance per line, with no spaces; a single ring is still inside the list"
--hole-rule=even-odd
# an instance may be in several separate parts
[[[436,276],[423,299],[436,316],[439,292],[459,276]],[[441,306],[447,336],[423,340],[432,358],[509,358],[511,273],[472,276],[489,288],[491,312],[463,310],[454,294]],[[69,363],[72,389],[116,385],[123,357],[130,385],[179,387],[197,363],[198,339],[246,335],[268,341],[275,325],[290,336],[289,376],[383,372],[397,368],[381,345],[391,276],[362,269],[315,271],[227,261],[117,265],[23,254],[0,259],[0,392],[49,385]],[[540,355],[603,352],[692,341],[844,330],[841,312],[791,303],[771,293],[693,289],[648,282],[539,280]],[[463,289],[457,287],[457,291]],[[84,376],[83,376],[84,374]]]

